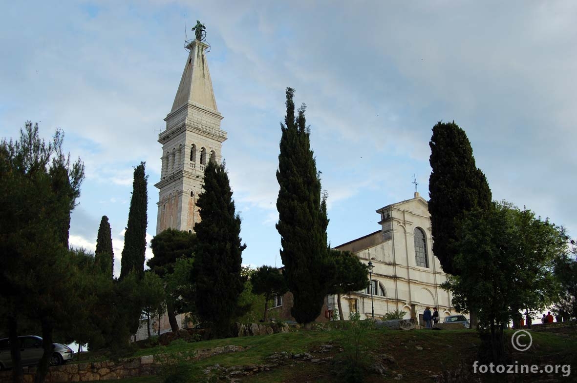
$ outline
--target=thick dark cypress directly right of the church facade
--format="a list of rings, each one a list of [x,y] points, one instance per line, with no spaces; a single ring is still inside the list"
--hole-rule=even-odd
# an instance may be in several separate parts
[[[473,149],[464,130],[455,122],[439,122],[429,142],[429,213],[431,214],[433,253],[443,271],[458,275],[453,259],[458,249],[458,226],[464,213],[491,206],[491,190],[481,169],[475,166]]]

